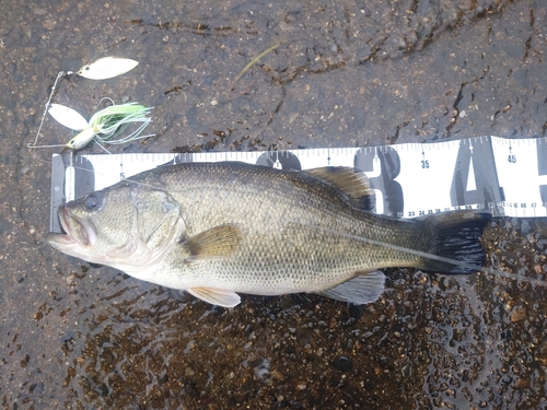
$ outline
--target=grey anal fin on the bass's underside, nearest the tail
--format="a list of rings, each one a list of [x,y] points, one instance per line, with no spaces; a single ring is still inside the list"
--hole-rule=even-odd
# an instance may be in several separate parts
[[[334,288],[315,292],[318,295],[356,305],[364,305],[376,301],[384,292],[385,277],[379,270],[358,272],[358,276]]]

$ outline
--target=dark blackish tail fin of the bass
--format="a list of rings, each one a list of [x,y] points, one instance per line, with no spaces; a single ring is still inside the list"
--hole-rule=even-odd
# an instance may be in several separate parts
[[[457,211],[428,215],[421,220],[431,234],[418,268],[441,273],[475,273],[485,265],[480,236],[491,220],[484,211]]]

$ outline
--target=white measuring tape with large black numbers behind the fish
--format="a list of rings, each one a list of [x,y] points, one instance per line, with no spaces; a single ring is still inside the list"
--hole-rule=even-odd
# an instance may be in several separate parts
[[[414,218],[458,209],[494,216],[547,216],[547,139],[475,137],[432,143],[268,152],[54,154],[51,232],[57,208],[166,163],[241,161],[283,169],[353,166],[376,194],[374,212]]]

